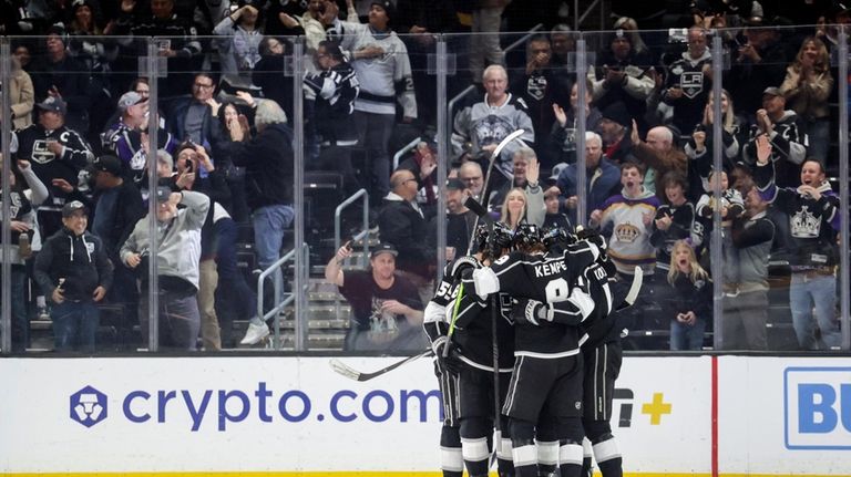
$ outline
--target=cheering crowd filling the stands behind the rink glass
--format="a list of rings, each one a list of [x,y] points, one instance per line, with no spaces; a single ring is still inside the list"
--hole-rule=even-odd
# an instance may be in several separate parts
[[[839,199],[828,177],[838,165],[832,105],[839,85],[845,87],[831,62],[835,24],[851,20],[841,3],[680,2],[669,24],[676,28],[664,33],[643,32],[645,25],[619,17],[612,31],[594,35],[599,44],[582,79],[576,37],[555,24],[556,2],[543,2],[553,3],[552,14],[542,20],[545,32],[524,42],[521,63],[504,54],[499,35],[501,18],[510,29],[507,12],[520,1],[19,3],[0,7],[0,34],[12,37],[13,53],[13,294],[23,293],[27,267],[55,237],[70,237],[69,258],[80,256],[73,249],[79,238],[89,261],[96,252],[104,277],[82,301],[121,305],[122,346],[146,340],[147,301],[140,297],[148,284],[140,270],[150,260],[150,200],[160,211],[163,343],[194,350],[201,339],[206,350],[233,346],[238,336],[224,323],[234,319],[250,323],[242,344],[269,334],[235,250],[250,242],[256,267],[267,269],[280,258],[294,222],[294,81],[304,86],[307,170],[338,174],[342,198],[367,189],[385,247],[371,256],[371,283],[368,274],[350,277],[339,268],[350,256],[346,248],[336,251],[326,277],[349,300],[356,289],[381,295],[390,283],[403,290],[385,293],[393,298],[383,304],[355,298],[348,349],[360,348],[356,334],[370,326],[369,310],[361,309],[378,307],[399,323],[421,320],[418,310],[438,272],[441,194],[450,259],[466,252],[474,229],[468,196],[511,228],[522,221],[599,227],[622,278],[639,266],[648,279],[653,298],[635,307],[633,319],[646,320],[643,312],[655,301],[654,312],[670,320],[677,350],[699,349],[704,330],[712,329],[711,302],[704,299],[711,301],[709,237],[712,214],[720,211],[722,257],[738,263],[725,268],[725,313],[740,317],[745,330],[725,328],[725,335],[747,336],[737,346],[767,349],[769,259],[782,259],[799,345],[839,345]],[[793,27],[804,20],[810,24]],[[428,59],[437,33],[476,32],[483,34],[451,41],[463,53],[452,91],[478,90],[451,112],[450,180],[438,184],[433,131],[443,106]],[[722,59],[711,53],[714,34],[721,37]],[[285,72],[293,70],[297,35],[305,40],[306,74],[294,79]],[[168,72],[155,85],[140,74],[150,37]],[[725,62],[722,77],[715,76],[717,61]],[[721,117],[714,108],[716,81],[724,85]],[[157,104],[148,100],[152,86]],[[716,121],[721,170],[712,163]],[[492,159],[496,145],[521,128],[524,134]],[[418,136],[422,142],[393,169],[396,144]],[[76,231],[80,224],[85,234]],[[100,269],[102,256],[109,270]],[[63,307],[54,294],[68,284],[53,274],[35,278],[55,321]],[[411,290],[419,300],[398,301]],[[690,295],[703,298],[690,307],[696,301],[684,298]],[[14,349],[22,351],[29,318],[13,312]],[[141,342],[132,338],[139,323]],[[58,349],[92,349],[82,335],[76,343],[68,333],[62,340]],[[401,341],[410,346],[416,340]]]

